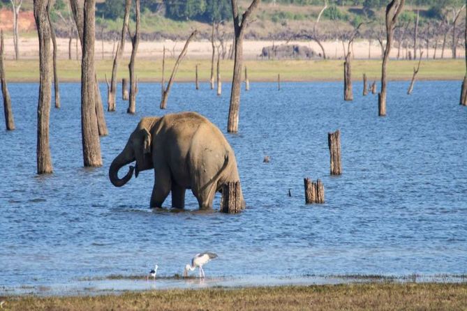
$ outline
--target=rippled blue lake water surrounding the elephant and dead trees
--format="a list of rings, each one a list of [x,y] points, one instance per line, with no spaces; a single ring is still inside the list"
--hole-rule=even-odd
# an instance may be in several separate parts
[[[417,82],[407,96],[408,82],[390,82],[380,118],[377,96],[362,96],[361,83],[344,102],[341,82],[283,83],[281,91],[252,82],[239,133],[230,135],[230,84],[221,97],[208,84],[175,84],[162,111],[160,85],[141,83],[137,114],[126,114],[120,98],[117,112],[105,112],[110,135],[96,169],[82,167],[80,84],[61,84],[62,108],[50,116],[54,174],[37,176],[38,84],[11,83],[17,130],[0,130],[0,293],[145,275],[156,263],[159,275],[181,274],[206,250],[219,256],[205,266],[208,278],[467,273],[460,84]],[[106,102],[104,84],[101,92]],[[110,183],[110,162],[142,116],[185,110],[207,116],[235,150],[243,213],[218,213],[220,194],[214,213],[198,213],[189,190],[185,212],[152,211],[151,171],[122,188]],[[338,128],[343,174],[331,177],[327,132]],[[304,177],[323,181],[325,204],[304,204]]]

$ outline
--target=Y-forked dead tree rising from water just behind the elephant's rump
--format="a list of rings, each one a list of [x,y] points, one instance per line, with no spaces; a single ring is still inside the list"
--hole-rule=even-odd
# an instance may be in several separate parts
[[[260,0],[253,0],[249,8],[246,9],[242,15],[242,21],[240,21],[239,9],[237,0],[231,0],[232,3],[232,17],[234,24],[235,34],[235,61],[233,68],[232,77],[232,89],[230,92],[230,105],[229,105],[229,116],[227,123],[228,132],[238,132],[238,120],[239,120],[239,109],[240,109],[240,84],[242,82],[242,61],[243,61],[243,36],[251,22],[251,15],[255,8],[258,8]]]

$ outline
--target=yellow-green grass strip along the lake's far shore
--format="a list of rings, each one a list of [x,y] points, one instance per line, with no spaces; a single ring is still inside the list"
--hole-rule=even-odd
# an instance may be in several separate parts
[[[124,59],[122,63],[127,62]],[[461,80],[465,75],[464,59],[444,59],[422,61],[417,79],[444,79]],[[175,59],[167,59],[165,68],[172,68]],[[209,81],[211,75],[211,62],[209,60],[185,59],[177,71],[176,82],[193,82],[195,79],[195,66],[199,64],[199,76],[203,82]],[[387,68],[387,77],[392,80],[408,80],[413,75],[413,66],[417,61],[390,61]],[[276,81],[277,74],[281,73],[283,81],[340,81],[342,79],[341,60],[281,60],[281,61],[245,61],[248,67],[249,79],[252,83],[260,81]],[[38,82],[39,65],[36,60],[7,60],[5,63],[6,78],[8,82]],[[59,60],[60,82],[79,82],[79,61]],[[227,83],[232,79],[233,61],[221,61],[221,76]],[[105,81],[105,73],[109,75],[112,70],[112,61],[96,61],[96,70],[101,82]],[[158,82],[161,79],[161,61],[138,59],[135,70],[141,82]],[[380,60],[360,60],[352,62],[353,78],[362,79],[363,73],[369,80],[380,79]],[[118,78],[128,76],[128,70],[119,70]]]

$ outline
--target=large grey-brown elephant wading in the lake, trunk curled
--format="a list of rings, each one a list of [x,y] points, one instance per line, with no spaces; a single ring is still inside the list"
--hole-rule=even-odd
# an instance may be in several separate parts
[[[121,167],[136,161],[119,179]],[[195,112],[144,117],[131,133],[123,151],[112,161],[109,178],[116,187],[140,172],[154,169],[151,208],[161,208],[172,192],[172,207],[184,208],[186,189],[200,209],[212,208],[214,195],[224,183],[240,181],[237,160],[221,130]],[[240,200],[244,197],[240,188]]]

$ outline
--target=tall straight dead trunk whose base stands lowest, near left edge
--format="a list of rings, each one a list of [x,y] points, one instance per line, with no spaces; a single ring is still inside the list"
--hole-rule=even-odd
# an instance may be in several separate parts
[[[50,73],[50,23],[47,19],[49,0],[34,0],[34,20],[39,39],[39,100],[37,107],[37,173],[50,174],[52,156],[49,144],[50,100],[52,79]],[[3,46],[3,45],[2,45]]]

